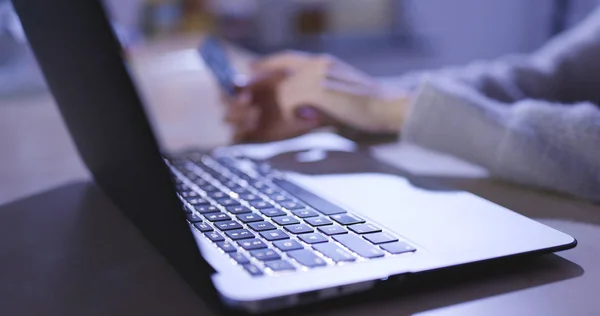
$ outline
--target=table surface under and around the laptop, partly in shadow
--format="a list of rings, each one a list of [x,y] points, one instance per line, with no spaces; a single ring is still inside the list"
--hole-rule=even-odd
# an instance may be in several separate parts
[[[147,46],[133,69],[165,147],[227,142],[198,38]],[[236,59],[243,64],[244,58]],[[48,95],[0,105],[0,314],[204,315],[203,303],[90,182]],[[372,149],[571,234],[579,246],[415,292],[376,293],[302,312],[335,315],[597,315],[600,206],[488,179],[476,166],[398,143]],[[485,271],[484,271],[485,272]],[[467,271],[467,274],[470,272]],[[437,284],[437,285],[436,285]]]

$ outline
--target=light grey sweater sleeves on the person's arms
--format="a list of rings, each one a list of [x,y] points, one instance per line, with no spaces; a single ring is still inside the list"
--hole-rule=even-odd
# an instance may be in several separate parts
[[[530,56],[420,82],[405,140],[500,178],[600,201],[600,10]]]

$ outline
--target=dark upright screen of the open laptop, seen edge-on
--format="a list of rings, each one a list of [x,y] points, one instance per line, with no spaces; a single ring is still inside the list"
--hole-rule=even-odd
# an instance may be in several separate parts
[[[13,5],[80,156],[98,186],[207,301],[202,258],[98,0]]]

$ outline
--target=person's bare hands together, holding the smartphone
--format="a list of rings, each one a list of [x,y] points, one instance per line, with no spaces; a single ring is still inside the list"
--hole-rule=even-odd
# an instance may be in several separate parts
[[[283,52],[255,62],[234,97],[224,97],[235,142],[285,139],[321,126],[398,132],[407,98],[327,55]]]

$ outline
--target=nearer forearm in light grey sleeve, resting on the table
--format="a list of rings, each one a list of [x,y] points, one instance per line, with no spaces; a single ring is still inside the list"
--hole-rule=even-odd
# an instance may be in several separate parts
[[[494,176],[600,201],[600,111],[523,100],[511,107],[450,81],[425,83],[403,139]]]

